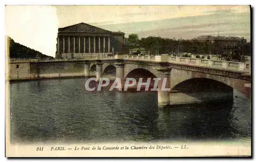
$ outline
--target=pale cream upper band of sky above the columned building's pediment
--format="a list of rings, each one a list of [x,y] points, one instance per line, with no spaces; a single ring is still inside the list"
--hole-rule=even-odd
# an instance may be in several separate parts
[[[217,11],[249,11],[247,6],[54,6],[60,26],[75,23],[118,24],[209,15]],[[114,21],[114,22],[113,22]]]

